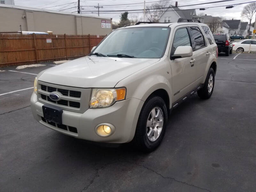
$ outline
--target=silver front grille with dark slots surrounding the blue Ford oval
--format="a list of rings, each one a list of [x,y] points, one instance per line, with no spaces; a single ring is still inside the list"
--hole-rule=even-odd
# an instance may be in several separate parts
[[[44,104],[56,105],[63,110],[84,113],[89,108],[91,88],[69,87],[38,81],[38,101]],[[56,92],[60,99],[54,101],[50,93]]]

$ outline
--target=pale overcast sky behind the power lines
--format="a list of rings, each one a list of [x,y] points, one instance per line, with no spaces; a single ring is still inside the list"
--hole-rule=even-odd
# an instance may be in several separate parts
[[[146,5],[154,4],[154,3],[150,3],[152,1],[157,1],[157,0],[146,0]],[[178,0],[178,6],[214,2],[214,1],[219,1],[219,0]],[[229,2],[214,3],[214,4],[185,6],[185,7],[180,7],[180,9],[190,9],[190,8],[194,9],[194,8],[205,8],[205,7],[212,7],[212,6],[219,6],[219,5],[232,5],[232,4],[245,3],[250,1],[252,0],[234,0]],[[121,0],[88,0],[88,1],[80,1],[80,6],[82,8],[81,11],[95,10],[94,12],[90,11],[93,13],[89,13],[89,15],[98,16],[97,8],[94,8],[94,6],[97,6],[98,3],[100,4],[100,6],[103,6],[103,8],[100,8],[100,10],[133,10],[133,9],[143,9],[144,8],[143,2],[144,2],[143,0],[122,0],[122,1]],[[68,4],[68,3],[71,3],[71,4]],[[141,3],[141,4],[132,4],[132,3]],[[174,5],[175,0],[170,0],[169,3]],[[66,4],[66,5],[61,5],[61,4]],[[117,4],[131,4],[131,5],[117,5]],[[15,0],[15,5],[34,7],[34,8],[40,8],[40,9],[46,8],[46,9],[51,9],[56,11],[66,9],[64,10],[64,12],[77,11],[77,7],[76,7],[77,0],[40,0],[40,1],[39,0],[36,0],[36,1],[35,0]],[[61,5],[61,6],[56,6],[56,5]],[[106,6],[106,5],[111,5],[111,6]],[[199,11],[199,9],[197,9],[196,13],[198,14],[200,12],[203,12],[207,15],[222,16],[227,19],[233,18],[233,19],[241,19],[243,21],[246,21],[244,18],[241,18],[241,12],[245,5],[246,4],[237,5],[231,9],[226,9],[225,7],[209,8],[204,11]],[[52,7],[52,6],[55,6],[55,7]],[[130,11],[130,12],[134,12],[134,11]],[[88,13],[84,13],[84,14],[88,14]],[[130,13],[130,15],[133,15],[133,16],[138,15],[141,18],[143,17],[143,13]],[[107,13],[107,14],[100,13],[100,16],[113,18],[113,21],[118,22],[120,18],[119,17],[120,13]]]

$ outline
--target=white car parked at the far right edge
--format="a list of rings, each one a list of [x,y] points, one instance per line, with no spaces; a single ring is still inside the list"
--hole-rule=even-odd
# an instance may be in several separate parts
[[[251,51],[256,52],[256,39],[244,39],[233,43],[233,51],[248,52],[251,44]]]

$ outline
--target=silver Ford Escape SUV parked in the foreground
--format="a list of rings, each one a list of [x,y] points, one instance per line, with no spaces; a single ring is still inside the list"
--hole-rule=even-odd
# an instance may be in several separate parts
[[[171,109],[211,97],[217,45],[207,25],[152,23],[114,30],[92,52],[40,72],[31,108],[61,133],[154,150]]]

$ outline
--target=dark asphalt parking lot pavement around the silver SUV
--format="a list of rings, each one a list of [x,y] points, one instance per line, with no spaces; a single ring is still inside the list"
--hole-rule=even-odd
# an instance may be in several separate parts
[[[53,67],[46,64],[0,72],[0,191],[255,191],[256,54],[219,54],[212,97],[195,94],[173,110],[149,154],[36,122],[33,74]]]

